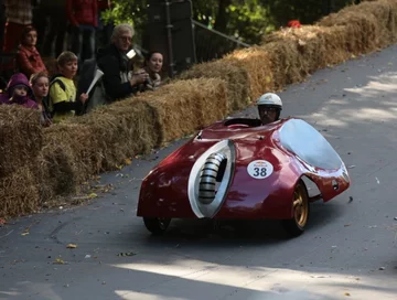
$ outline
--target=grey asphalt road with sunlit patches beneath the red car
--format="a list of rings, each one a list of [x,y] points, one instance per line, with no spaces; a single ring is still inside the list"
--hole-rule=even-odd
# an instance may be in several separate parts
[[[2,226],[0,299],[397,299],[396,53],[280,93],[282,115],[322,130],[353,181],[312,205],[302,236],[287,238],[277,222],[175,221],[152,237],[136,217],[140,182],[179,141],[104,174],[99,184],[115,189],[89,205]]]

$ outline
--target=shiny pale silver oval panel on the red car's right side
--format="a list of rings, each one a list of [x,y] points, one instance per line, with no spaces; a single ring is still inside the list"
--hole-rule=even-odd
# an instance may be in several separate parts
[[[312,167],[335,170],[343,164],[328,140],[303,120],[288,120],[280,128],[280,142],[282,147]]]

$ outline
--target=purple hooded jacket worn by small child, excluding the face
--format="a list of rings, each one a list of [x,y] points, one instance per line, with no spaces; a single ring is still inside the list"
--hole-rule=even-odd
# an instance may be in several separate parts
[[[13,89],[17,85],[24,85],[28,87],[28,96],[20,97],[14,96],[12,97]],[[0,104],[18,104],[22,105],[28,108],[39,108],[37,104],[32,100],[33,92],[29,86],[29,81],[26,76],[22,73],[18,73],[11,76],[10,82],[7,85],[7,93],[0,95]],[[12,98],[12,99],[11,99]]]

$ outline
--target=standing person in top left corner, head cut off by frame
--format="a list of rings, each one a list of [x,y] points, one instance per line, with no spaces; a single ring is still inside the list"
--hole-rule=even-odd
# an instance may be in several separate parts
[[[25,26],[32,24],[32,0],[6,0],[6,32],[3,52],[13,52]]]

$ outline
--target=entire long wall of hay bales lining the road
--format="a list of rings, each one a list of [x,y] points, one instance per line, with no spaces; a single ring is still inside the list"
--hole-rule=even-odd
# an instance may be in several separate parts
[[[314,25],[197,64],[157,92],[41,128],[37,114],[0,107],[0,217],[75,193],[90,175],[249,106],[259,95],[396,42],[397,1],[365,1]]]

